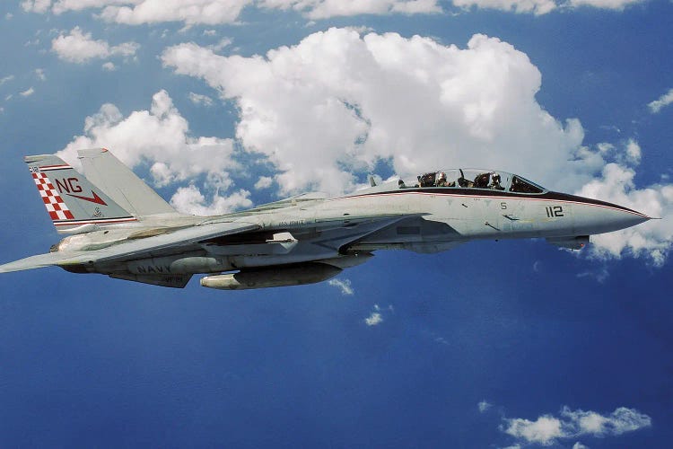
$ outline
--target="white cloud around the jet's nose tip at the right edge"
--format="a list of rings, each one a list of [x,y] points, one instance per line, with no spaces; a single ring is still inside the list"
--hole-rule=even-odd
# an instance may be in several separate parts
[[[577,193],[660,219],[615,233],[591,236],[590,256],[606,259],[620,258],[624,254],[642,255],[655,266],[661,266],[673,244],[673,184],[659,183],[636,188],[634,169],[640,161],[640,146],[631,140],[625,145],[623,154],[620,163],[607,163],[599,178],[585,184]]]

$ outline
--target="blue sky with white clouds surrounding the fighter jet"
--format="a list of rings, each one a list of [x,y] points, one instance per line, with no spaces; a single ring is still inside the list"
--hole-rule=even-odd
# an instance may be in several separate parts
[[[671,2],[180,5],[0,5],[4,261],[59,238],[22,156],[96,146],[191,213],[481,166],[662,219],[259,291],[5,274],[2,445],[669,447]]]

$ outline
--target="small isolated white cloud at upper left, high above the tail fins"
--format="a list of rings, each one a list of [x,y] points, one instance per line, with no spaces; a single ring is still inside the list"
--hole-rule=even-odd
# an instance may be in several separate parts
[[[139,47],[135,42],[110,47],[105,40],[93,40],[91,33],[84,33],[79,27],[51,41],[51,49],[58,57],[74,63],[112,56],[133,57]]]

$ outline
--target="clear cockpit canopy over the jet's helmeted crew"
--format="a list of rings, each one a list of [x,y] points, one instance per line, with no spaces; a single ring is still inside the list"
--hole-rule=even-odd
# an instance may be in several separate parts
[[[546,191],[519,175],[478,169],[450,169],[428,172],[416,177],[416,180],[399,180],[400,189],[424,187],[453,187],[459,189],[492,189],[515,193],[539,194]]]

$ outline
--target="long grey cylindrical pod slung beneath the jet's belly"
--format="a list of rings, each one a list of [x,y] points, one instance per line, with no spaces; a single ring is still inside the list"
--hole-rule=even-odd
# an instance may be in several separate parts
[[[335,277],[342,269],[320,262],[301,263],[269,269],[247,269],[238,273],[206,276],[201,286],[219,290],[247,290],[272,286],[302,286]]]

